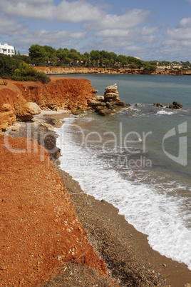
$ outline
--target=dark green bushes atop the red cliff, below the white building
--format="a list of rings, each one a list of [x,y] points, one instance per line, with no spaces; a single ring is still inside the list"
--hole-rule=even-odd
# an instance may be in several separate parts
[[[0,54],[0,78],[15,81],[41,81],[43,84],[51,81],[45,73],[33,69],[29,62],[29,56]]]

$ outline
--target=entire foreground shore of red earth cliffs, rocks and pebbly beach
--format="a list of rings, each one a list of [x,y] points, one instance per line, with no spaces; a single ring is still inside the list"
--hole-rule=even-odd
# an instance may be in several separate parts
[[[0,136],[0,286],[190,287],[187,266],[153,251],[147,236],[116,208],[83,193],[59,168],[53,129],[70,116],[66,106],[74,113],[88,109],[95,94],[90,82],[78,79],[63,85],[55,79],[51,86],[38,88],[20,83],[12,86],[14,93],[8,85],[4,92],[1,88],[0,109],[4,104],[12,109],[0,110],[1,123],[6,122],[4,112],[12,112],[9,119],[14,120],[7,126],[16,123],[20,129]],[[114,87],[96,101],[111,103],[108,94],[115,94],[112,101],[118,99]],[[23,113],[28,102],[49,111],[16,122],[16,111]]]

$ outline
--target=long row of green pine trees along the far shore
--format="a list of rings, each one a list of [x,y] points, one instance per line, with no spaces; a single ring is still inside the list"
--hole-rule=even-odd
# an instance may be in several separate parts
[[[92,50],[81,54],[76,49],[32,45],[29,48],[29,59],[36,66],[85,66],[105,68],[157,69],[150,61],[142,61],[133,56],[117,55],[105,50]]]

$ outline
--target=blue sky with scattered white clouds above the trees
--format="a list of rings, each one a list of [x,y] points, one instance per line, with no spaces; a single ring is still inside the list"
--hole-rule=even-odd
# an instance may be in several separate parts
[[[0,43],[191,61],[191,0],[0,0]]]

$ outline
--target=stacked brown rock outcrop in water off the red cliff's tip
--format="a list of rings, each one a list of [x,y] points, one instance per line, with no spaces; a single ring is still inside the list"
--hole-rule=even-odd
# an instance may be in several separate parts
[[[113,116],[117,111],[130,106],[120,101],[118,87],[116,85],[107,86],[103,96],[94,96],[88,105],[100,114],[100,116]]]

